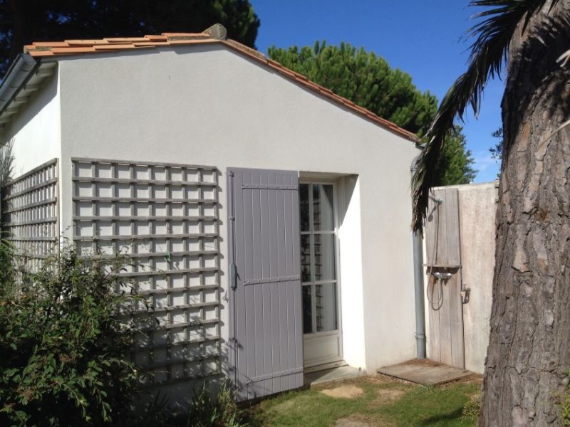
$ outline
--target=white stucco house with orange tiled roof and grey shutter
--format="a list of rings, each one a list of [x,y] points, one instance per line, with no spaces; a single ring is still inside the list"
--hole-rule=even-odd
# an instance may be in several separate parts
[[[417,137],[224,34],[26,46],[0,86],[15,243],[138,261],[156,386],[412,359]]]

